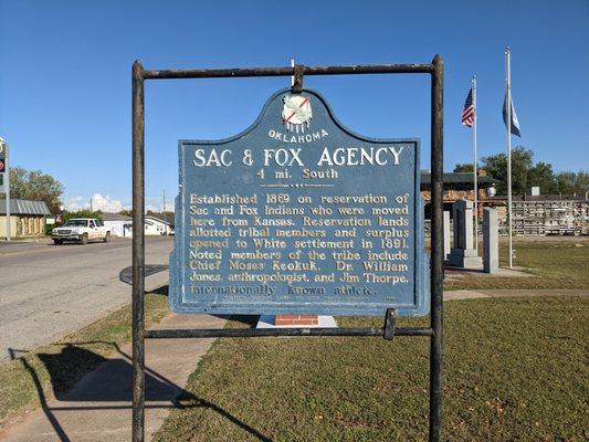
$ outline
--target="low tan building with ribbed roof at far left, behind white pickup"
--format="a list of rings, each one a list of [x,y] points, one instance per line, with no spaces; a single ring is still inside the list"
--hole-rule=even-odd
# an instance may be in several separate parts
[[[10,200],[10,236],[44,236],[46,218],[51,217],[44,201]],[[7,200],[0,200],[0,238],[7,238]]]

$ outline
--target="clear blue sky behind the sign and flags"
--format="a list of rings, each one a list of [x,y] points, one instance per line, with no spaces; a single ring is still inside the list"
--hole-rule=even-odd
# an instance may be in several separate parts
[[[0,136],[12,165],[42,169],[65,200],[130,204],[130,66],[146,69],[445,61],[445,169],[472,161],[460,114],[478,77],[481,156],[505,151],[505,45],[522,139],[556,170],[589,168],[589,1],[0,0]],[[249,126],[290,78],[146,86],[147,202],[177,193],[177,140]],[[369,136],[419,137],[429,167],[427,76],[308,77]]]

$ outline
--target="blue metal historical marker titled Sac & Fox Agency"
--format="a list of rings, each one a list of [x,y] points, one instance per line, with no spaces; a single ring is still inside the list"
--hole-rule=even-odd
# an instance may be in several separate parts
[[[359,136],[284,90],[232,138],[180,140],[179,169],[173,312],[428,313],[418,139]]]

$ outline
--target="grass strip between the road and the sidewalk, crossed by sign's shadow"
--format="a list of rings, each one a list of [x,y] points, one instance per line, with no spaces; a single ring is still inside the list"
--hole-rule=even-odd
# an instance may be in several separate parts
[[[167,299],[165,290],[146,295],[146,326],[160,322],[169,312]],[[17,354],[21,357],[0,366],[0,427],[39,408],[42,397],[67,391],[118,346],[129,343],[130,324],[127,305],[55,344]]]

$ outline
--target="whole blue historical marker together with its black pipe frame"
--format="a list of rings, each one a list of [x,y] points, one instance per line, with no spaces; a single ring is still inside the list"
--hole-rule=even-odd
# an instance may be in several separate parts
[[[420,144],[346,129],[303,76],[431,75],[431,264],[423,248]],[[213,314],[382,315],[381,328],[145,330],[144,83],[294,76],[232,138],[180,140],[169,303]],[[145,338],[429,336],[430,441],[441,439],[443,62],[145,71],[133,65],[133,440],[144,440]],[[430,274],[431,265],[431,274]],[[427,296],[429,294],[429,296]],[[429,327],[396,327],[422,316]]]

